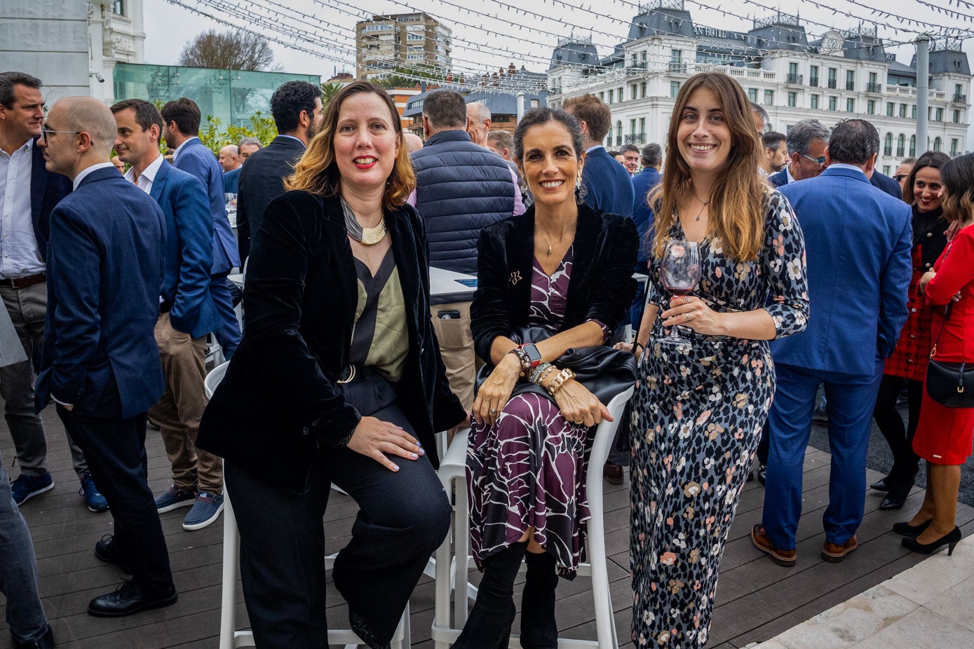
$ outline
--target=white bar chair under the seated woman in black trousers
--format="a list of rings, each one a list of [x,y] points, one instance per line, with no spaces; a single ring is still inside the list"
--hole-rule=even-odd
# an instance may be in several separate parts
[[[216,386],[223,380],[227,373],[227,366],[230,363],[223,363],[213,368],[206,375],[204,389],[206,398],[213,396]],[[223,486],[223,583],[220,592],[220,649],[236,649],[237,647],[256,646],[251,631],[237,631],[237,562],[239,560],[240,546],[238,545],[237,517],[234,515],[234,508],[230,502],[230,495],[227,493],[226,485]],[[335,561],[336,555],[328,555],[324,558],[324,566],[330,569]],[[345,649],[355,649],[365,643],[349,629],[329,629],[328,644],[344,644]],[[409,628],[409,602],[406,602],[406,610],[399,619],[399,626],[393,635],[393,647],[398,649],[408,649],[411,644],[411,632]]]

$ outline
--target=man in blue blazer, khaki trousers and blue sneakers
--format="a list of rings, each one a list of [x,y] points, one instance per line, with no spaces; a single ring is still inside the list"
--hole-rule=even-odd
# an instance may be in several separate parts
[[[162,431],[172,483],[156,498],[156,509],[164,513],[192,505],[183,528],[202,529],[223,509],[220,459],[196,449],[206,408],[206,334],[219,323],[209,295],[213,225],[206,190],[160,155],[163,117],[152,103],[126,99],[111,110],[118,124],[115,150],[131,164],[126,180],[154,198],[166,217],[166,279],[155,330],[166,393],[149,416]]]

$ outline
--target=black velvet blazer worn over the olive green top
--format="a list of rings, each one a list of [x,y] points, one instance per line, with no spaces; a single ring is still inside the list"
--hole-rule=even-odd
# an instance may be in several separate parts
[[[409,205],[385,218],[409,328],[398,405],[435,467],[434,432],[465,413],[432,331],[422,219]],[[335,389],[349,363],[357,299],[339,198],[287,192],[271,201],[250,251],[244,339],[206,408],[198,446],[273,485],[306,490],[318,453],[360,419]]]

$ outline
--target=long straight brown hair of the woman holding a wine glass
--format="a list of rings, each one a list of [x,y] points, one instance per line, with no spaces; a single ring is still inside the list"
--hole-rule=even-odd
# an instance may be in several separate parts
[[[676,217],[676,206],[693,196],[690,166],[680,155],[678,131],[680,117],[694,90],[713,91],[721,104],[724,120],[731,130],[731,151],[727,165],[711,188],[708,235],[721,239],[724,252],[732,259],[752,261],[764,244],[762,200],[770,191],[758,174],[763,145],[758,138],[751,103],[737,82],[719,72],[703,72],[691,77],[680,89],[670,117],[666,140],[666,162],[662,181],[649,197],[655,216],[654,250],[662,255],[663,246]]]

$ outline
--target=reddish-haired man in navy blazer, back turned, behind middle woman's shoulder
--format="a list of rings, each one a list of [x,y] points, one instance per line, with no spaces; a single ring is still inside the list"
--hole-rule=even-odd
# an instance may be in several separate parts
[[[612,127],[609,106],[595,95],[583,94],[566,101],[564,109],[574,115],[581,126],[581,146],[585,147],[581,168],[585,204],[610,214],[631,216],[635,197],[632,179],[625,167],[602,146]]]

